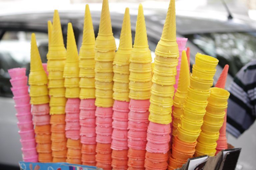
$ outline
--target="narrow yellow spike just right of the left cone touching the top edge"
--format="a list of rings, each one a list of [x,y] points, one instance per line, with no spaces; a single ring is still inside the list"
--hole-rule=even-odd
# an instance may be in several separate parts
[[[125,9],[118,49],[127,49],[127,50],[132,49],[132,32],[131,32],[129,8]]]

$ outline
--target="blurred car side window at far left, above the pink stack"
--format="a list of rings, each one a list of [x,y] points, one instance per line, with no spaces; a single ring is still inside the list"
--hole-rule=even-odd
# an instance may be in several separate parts
[[[10,76],[8,69],[26,67],[27,75],[30,67],[30,38],[32,32],[4,31],[0,40],[0,96],[10,97]],[[48,35],[36,32],[36,39],[41,59],[46,62],[48,51]]]

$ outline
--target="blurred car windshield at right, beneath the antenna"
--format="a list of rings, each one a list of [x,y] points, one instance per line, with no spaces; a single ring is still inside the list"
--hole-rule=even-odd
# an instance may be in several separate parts
[[[186,35],[204,53],[216,57],[219,65],[229,64],[229,73],[236,73],[252,59],[256,59],[256,32],[207,33]]]

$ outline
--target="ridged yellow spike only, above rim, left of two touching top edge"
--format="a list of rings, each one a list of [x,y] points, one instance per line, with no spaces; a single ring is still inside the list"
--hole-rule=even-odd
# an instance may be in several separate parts
[[[111,19],[110,19],[110,12],[109,12],[109,7],[108,7],[108,0],[103,0],[103,2],[102,2],[99,34],[105,35],[105,36],[113,35]]]

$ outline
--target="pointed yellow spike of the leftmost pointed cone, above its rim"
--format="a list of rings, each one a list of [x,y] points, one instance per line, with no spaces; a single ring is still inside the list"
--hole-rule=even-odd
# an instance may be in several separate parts
[[[36,35],[32,33],[31,35],[31,49],[30,49],[30,71],[44,70],[41,57],[36,44]]]

